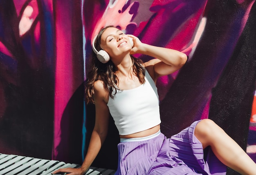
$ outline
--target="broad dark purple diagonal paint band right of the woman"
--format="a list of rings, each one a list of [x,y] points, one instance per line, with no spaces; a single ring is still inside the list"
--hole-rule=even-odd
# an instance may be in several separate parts
[[[225,5],[219,5],[208,3],[204,11],[207,24],[195,54],[182,68],[161,103],[162,130],[169,135],[200,119],[202,112],[206,112],[204,109],[211,89],[218,81],[243,30],[244,26],[241,23],[239,25],[239,21],[245,19],[240,15],[245,14],[244,8],[229,5],[227,11],[220,12]],[[216,9],[219,11],[213,13]]]

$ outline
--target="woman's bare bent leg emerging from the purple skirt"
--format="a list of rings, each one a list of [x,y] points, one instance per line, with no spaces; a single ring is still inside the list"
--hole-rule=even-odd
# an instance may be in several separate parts
[[[211,146],[216,157],[229,168],[243,175],[256,175],[255,162],[212,120],[203,119],[198,122],[195,137],[202,143],[203,148]]]

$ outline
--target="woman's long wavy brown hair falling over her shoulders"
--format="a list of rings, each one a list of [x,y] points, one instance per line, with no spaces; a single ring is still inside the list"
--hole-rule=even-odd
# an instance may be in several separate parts
[[[101,36],[103,32],[108,28],[108,27],[114,27],[114,26],[107,26],[101,29],[99,34],[97,35],[97,38],[95,40],[94,46],[95,48],[99,51],[101,50]],[[133,56],[132,58],[132,69],[133,73],[139,78],[139,82],[141,84],[145,83],[145,68],[143,67],[143,62],[140,59],[137,59]],[[86,103],[94,103],[93,100],[93,95],[94,95],[94,82],[95,81],[102,81],[104,88],[108,89],[109,95],[111,98],[114,98],[114,95],[117,93],[117,90],[120,90],[117,87],[118,84],[118,77],[116,76],[115,72],[117,71],[114,63],[111,61],[108,61],[107,63],[101,63],[97,55],[92,52],[90,56],[90,61],[89,61],[89,66],[90,70],[87,75],[87,79],[85,81],[85,101]],[[113,93],[113,91],[115,93]]]

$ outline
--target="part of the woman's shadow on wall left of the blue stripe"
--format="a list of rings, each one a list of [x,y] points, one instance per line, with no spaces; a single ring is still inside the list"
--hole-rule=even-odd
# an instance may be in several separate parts
[[[83,83],[68,101],[61,117],[60,143],[55,151],[56,160],[66,163],[82,164],[82,126],[83,126]]]

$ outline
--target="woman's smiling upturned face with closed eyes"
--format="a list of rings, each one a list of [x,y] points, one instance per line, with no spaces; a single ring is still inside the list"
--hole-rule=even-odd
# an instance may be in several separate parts
[[[101,48],[109,54],[111,59],[129,54],[132,49],[128,36],[115,27],[108,27],[103,32]]]

